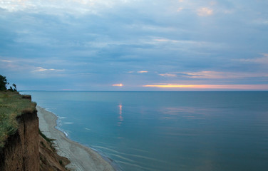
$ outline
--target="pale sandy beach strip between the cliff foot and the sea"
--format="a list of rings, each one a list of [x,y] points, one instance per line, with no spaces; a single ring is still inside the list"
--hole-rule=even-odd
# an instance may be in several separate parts
[[[110,163],[103,159],[96,151],[89,147],[85,147],[78,142],[74,142],[66,138],[66,135],[57,130],[57,117],[40,106],[36,106],[38,110],[39,128],[48,138],[56,139],[54,141],[58,155],[67,157],[71,163],[67,167],[76,171],[110,171],[115,169]]]

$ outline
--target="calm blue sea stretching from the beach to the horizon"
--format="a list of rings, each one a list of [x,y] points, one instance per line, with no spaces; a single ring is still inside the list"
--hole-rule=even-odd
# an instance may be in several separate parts
[[[122,170],[267,170],[268,92],[23,92]]]

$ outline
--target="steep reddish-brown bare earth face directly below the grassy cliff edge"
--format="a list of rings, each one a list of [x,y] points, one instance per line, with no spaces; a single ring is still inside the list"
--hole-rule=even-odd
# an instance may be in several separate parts
[[[36,111],[17,118],[19,128],[0,150],[0,170],[38,171],[39,133]]]

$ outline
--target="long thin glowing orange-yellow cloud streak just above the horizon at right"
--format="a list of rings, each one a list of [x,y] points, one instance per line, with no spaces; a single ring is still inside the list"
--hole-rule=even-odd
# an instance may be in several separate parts
[[[234,89],[234,90],[268,90],[266,85],[183,85],[183,84],[149,84],[150,88],[190,88],[190,89]]]

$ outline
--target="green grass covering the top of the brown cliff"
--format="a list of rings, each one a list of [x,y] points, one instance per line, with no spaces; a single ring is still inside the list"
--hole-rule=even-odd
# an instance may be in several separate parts
[[[33,112],[36,112],[36,103],[32,103],[29,96],[0,91],[0,148],[4,147],[9,135],[16,133],[16,117]]]

